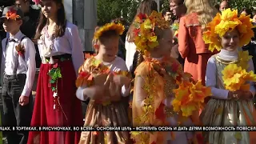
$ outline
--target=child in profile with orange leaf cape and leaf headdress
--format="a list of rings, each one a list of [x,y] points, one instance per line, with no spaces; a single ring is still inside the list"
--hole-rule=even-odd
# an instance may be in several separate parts
[[[149,17],[139,14],[134,21],[135,45],[144,55],[144,61],[135,70],[134,98],[132,103],[133,126],[194,125],[190,118],[179,118],[171,102],[176,81],[189,80],[182,66],[170,58],[172,32],[170,24],[154,11]],[[138,132],[131,138],[138,144],[186,144],[192,140],[191,132]]]

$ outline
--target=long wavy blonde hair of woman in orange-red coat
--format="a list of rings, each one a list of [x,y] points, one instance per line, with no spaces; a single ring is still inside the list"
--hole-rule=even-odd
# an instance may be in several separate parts
[[[197,13],[198,21],[202,29],[205,29],[206,24],[211,22],[218,13],[218,10],[211,4],[210,0],[186,0],[186,13]]]

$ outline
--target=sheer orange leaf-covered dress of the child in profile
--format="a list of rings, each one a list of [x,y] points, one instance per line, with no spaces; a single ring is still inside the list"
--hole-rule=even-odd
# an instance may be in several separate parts
[[[134,97],[132,103],[133,126],[192,126],[190,118],[178,122],[171,102],[176,80],[185,78],[182,66],[175,58],[146,58],[135,70]],[[188,143],[191,132],[133,131],[135,143]]]

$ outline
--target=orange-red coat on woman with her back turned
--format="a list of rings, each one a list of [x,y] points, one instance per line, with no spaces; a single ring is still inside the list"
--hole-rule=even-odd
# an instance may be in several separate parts
[[[185,58],[184,71],[190,73],[195,81],[202,80],[205,84],[207,61],[214,53],[208,50],[202,39],[202,28],[196,13],[180,19],[178,51]]]

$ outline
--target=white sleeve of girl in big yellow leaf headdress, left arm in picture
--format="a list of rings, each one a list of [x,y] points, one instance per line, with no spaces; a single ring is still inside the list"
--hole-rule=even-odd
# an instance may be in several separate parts
[[[229,90],[223,90],[216,88],[218,77],[217,67],[215,64],[215,58],[211,57],[208,60],[206,66],[206,86],[210,86],[213,98],[228,99]]]

